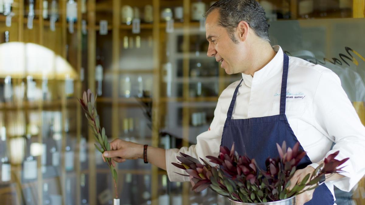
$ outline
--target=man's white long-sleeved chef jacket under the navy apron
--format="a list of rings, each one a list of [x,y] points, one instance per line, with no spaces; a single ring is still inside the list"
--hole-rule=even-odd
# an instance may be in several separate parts
[[[233,119],[247,119],[279,114],[281,78],[283,75],[283,50],[273,46],[275,57],[254,76],[242,74]],[[197,144],[166,150],[166,169],[170,181],[188,181],[177,173],[184,173],[173,166],[179,152],[195,158],[218,156],[223,126],[233,93],[239,81],[233,82],[218,98],[210,130],[197,136]],[[351,188],[365,174],[365,127],[341,87],[338,76],[321,65],[289,57],[287,101],[285,114],[295,136],[307,151],[312,162],[339,150],[336,159],[349,157],[344,164],[345,177],[326,182],[333,194],[333,185],[343,191]],[[331,146],[335,143],[333,149]],[[334,194],[333,194],[334,195]]]

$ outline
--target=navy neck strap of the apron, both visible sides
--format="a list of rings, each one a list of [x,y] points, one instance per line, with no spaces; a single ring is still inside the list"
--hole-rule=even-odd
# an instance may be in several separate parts
[[[285,102],[287,100],[287,80],[288,80],[288,67],[289,67],[289,57],[284,53],[284,66],[283,66],[283,78],[281,79],[281,95],[280,95],[280,115],[285,114]],[[233,97],[231,100],[231,104],[228,108],[227,119],[232,119],[232,113],[234,104],[236,103],[238,88],[242,84],[243,78],[241,82],[237,85],[234,90]]]

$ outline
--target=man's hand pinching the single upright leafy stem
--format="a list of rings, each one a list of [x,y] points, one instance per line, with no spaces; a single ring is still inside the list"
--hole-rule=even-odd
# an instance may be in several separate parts
[[[143,158],[143,145],[134,142],[127,142],[121,139],[115,139],[110,143],[111,151],[103,153],[103,160],[105,157],[112,158],[112,164],[115,167],[115,162],[125,162],[126,159]]]

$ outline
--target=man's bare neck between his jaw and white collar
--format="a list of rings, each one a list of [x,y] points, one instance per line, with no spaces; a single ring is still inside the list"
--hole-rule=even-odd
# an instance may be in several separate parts
[[[255,72],[265,67],[276,55],[276,52],[271,47],[270,43],[257,43],[255,46],[251,46],[250,59],[252,60],[251,66],[245,74],[254,76]]]

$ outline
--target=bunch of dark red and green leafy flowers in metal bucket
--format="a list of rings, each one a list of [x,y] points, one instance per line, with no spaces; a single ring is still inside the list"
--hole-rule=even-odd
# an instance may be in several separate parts
[[[216,166],[211,166],[201,158],[203,163],[200,163],[198,159],[181,152],[181,156],[176,157],[180,163],[172,164],[187,172],[187,175],[177,174],[189,177],[193,185],[192,189],[196,192],[210,187],[214,192],[227,196],[233,201],[262,203],[284,200],[315,189],[324,174],[342,172],[343,167],[338,167],[349,159],[336,160],[338,151],[329,155],[312,174],[307,174],[300,183],[289,190],[290,179],[300,160],[306,156],[306,152],[299,149],[299,143],[296,143],[293,148],[287,148],[285,142],[281,147],[276,145],[279,157],[266,160],[266,171],[260,170],[254,159],[239,156],[234,151],[234,145],[231,150],[221,146],[218,157],[206,157]],[[304,189],[306,187],[307,189]]]

